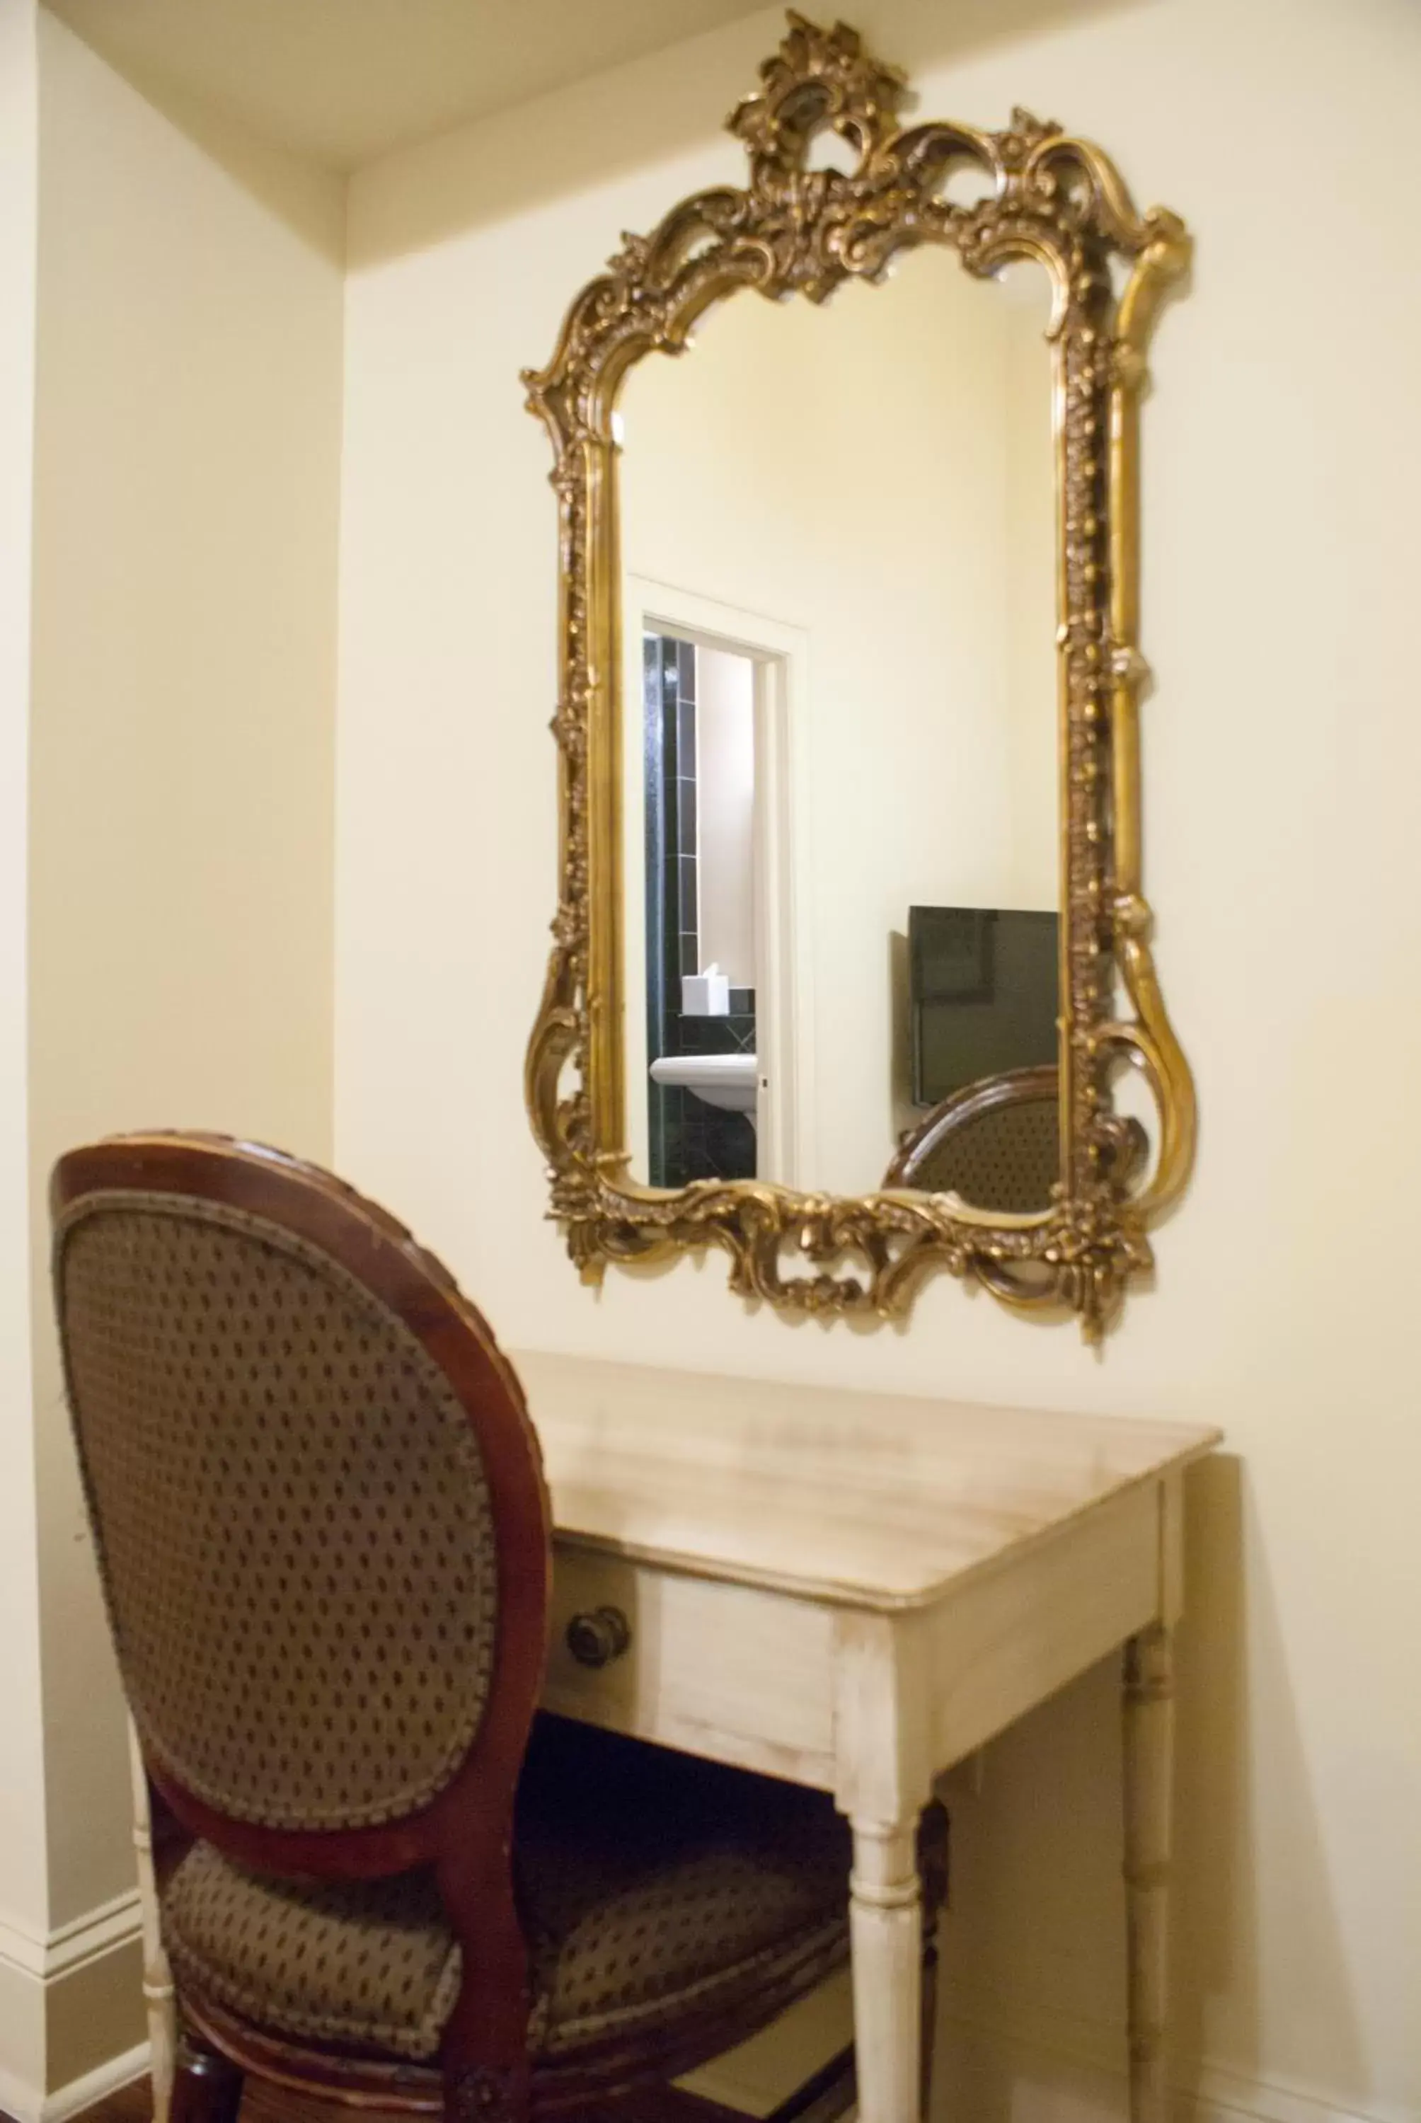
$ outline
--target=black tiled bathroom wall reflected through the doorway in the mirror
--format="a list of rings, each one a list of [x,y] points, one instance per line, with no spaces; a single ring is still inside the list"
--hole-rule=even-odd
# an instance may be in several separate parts
[[[641,641],[646,713],[646,1051],[752,1053],[754,989],[731,989],[729,1017],[686,1017],[682,974],[701,966],[697,879],[697,660],[688,641]],[[754,1178],[754,1125],[695,1091],[648,1078],[652,1187]]]

